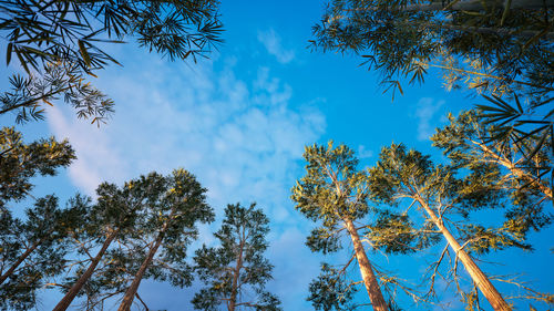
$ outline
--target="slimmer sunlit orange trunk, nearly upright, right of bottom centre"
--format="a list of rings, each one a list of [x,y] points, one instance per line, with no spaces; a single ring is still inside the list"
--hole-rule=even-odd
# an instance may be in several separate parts
[[[343,219],[348,234],[350,234],[350,238],[352,239],[353,250],[356,252],[356,259],[358,260],[358,266],[360,267],[361,278],[363,279],[363,284],[366,286],[366,290],[369,294],[369,300],[373,305],[375,311],[387,311],[387,302],[384,302],[384,298],[382,297],[381,289],[379,288],[379,283],[377,282],[376,274],[373,273],[373,268],[369,262],[369,259],[363,250],[363,247],[360,241],[360,237],[358,236],[358,230],[356,230],[352,220]]]

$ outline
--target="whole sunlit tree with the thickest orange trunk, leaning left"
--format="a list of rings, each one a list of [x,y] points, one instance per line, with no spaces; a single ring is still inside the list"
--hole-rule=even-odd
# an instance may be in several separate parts
[[[378,163],[369,168],[369,188],[375,200],[396,205],[402,199],[419,206],[421,217],[430,221],[448,241],[494,310],[511,310],[496,288],[478,267],[470,255],[488,252],[516,246],[527,249],[516,232],[504,228],[484,228],[474,222],[456,221],[469,216],[471,210],[494,207],[502,194],[490,187],[494,180],[493,168],[485,167],[458,179],[456,172],[449,166],[434,165],[428,156],[417,151],[406,151],[402,145],[391,145],[381,151]],[[492,176],[492,177],[491,177]],[[460,234],[459,241],[450,228]],[[440,260],[439,260],[440,263]],[[437,263],[437,265],[439,265]],[[434,276],[431,277],[434,280]]]

